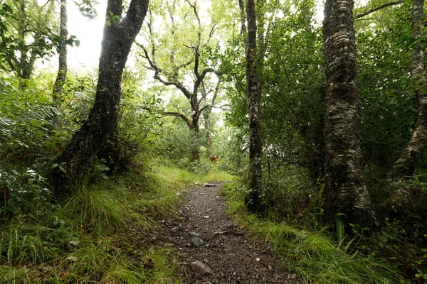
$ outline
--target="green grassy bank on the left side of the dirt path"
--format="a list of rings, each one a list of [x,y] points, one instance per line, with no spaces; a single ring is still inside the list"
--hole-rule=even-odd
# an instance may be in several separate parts
[[[155,220],[175,214],[193,182],[231,178],[154,165],[84,185],[37,220],[0,220],[0,283],[181,283],[174,249],[147,241]]]

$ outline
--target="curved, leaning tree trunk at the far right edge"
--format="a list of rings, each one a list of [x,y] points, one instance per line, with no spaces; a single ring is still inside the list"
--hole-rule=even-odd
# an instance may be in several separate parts
[[[427,76],[426,76],[426,48],[423,43],[424,0],[412,1],[412,33],[417,41],[416,49],[411,58],[411,77],[415,94],[418,99],[418,111],[415,130],[406,148],[391,169],[390,178],[397,182],[408,175],[413,175],[416,163],[421,158],[427,142]]]

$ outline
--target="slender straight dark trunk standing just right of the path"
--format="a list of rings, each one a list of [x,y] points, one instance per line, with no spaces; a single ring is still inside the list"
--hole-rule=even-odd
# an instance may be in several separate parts
[[[248,41],[246,47],[246,84],[249,114],[249,168],[248,195],[245,202],[251,212],[261,212],[262,167],[261,167],[261,126],[260,126],[260,92],[257,72],[257,27],[255,1],[246,2],[248,19]]]

